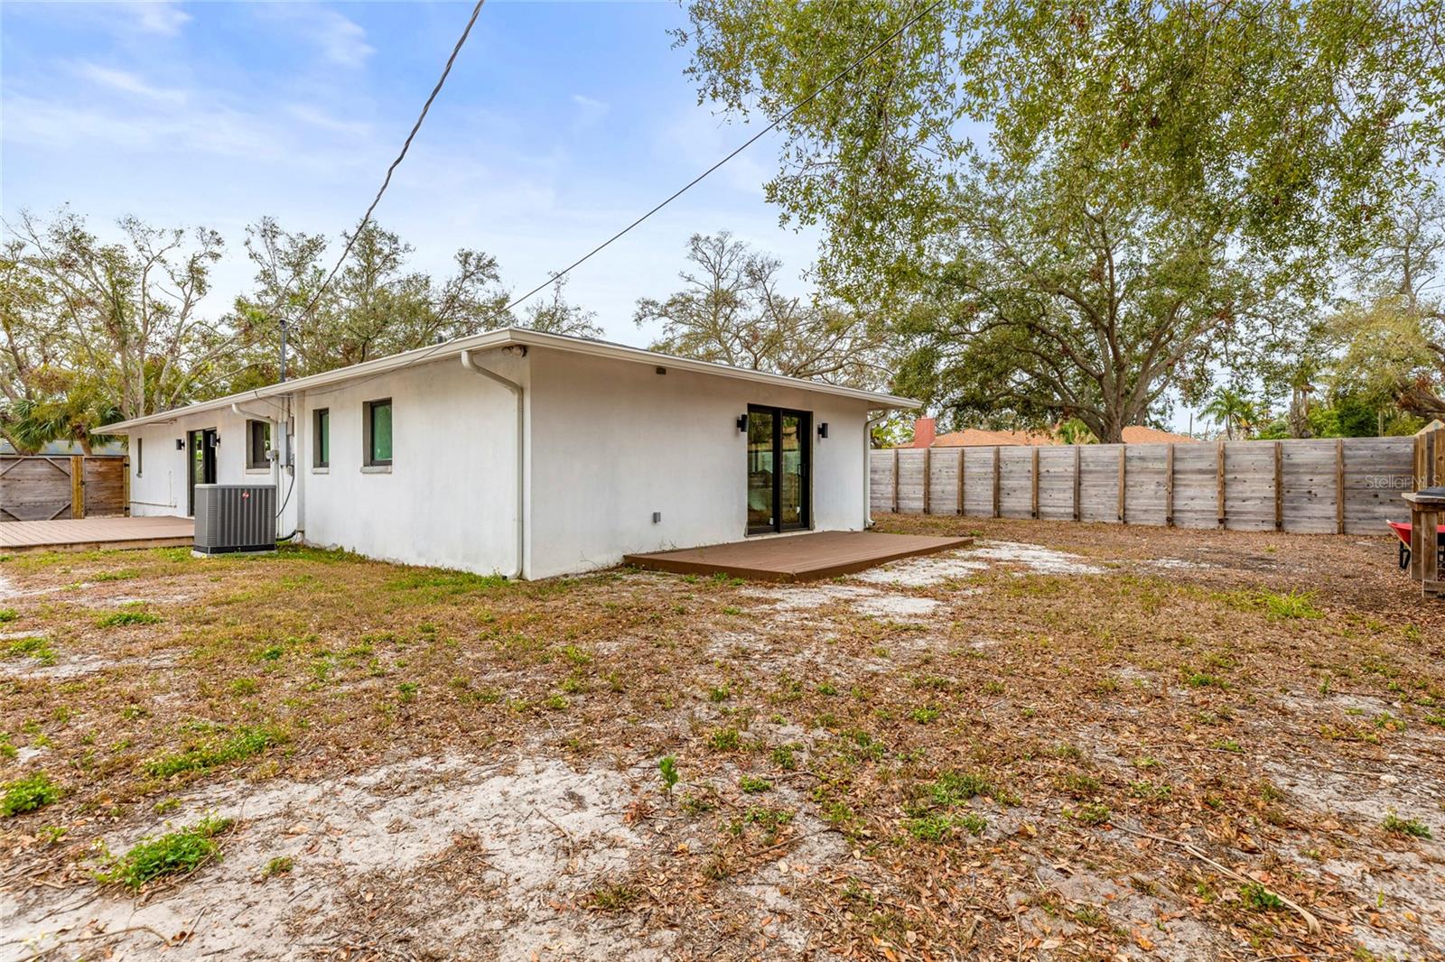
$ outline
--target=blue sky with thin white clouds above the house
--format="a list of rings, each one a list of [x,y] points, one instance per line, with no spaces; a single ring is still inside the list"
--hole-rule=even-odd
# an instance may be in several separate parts
[[[220,313],[250,282],[246,224],[334,237],[357,221],[470,9],[7,0],[0,211],[212,227]],[[545,280],[750,136],[696,103],[668,35],[682,23],[673,3],[488,0],[377,220],[434,274],[475,247],[516,290]],[[731,230],[801,274],[816,237],[762,195],[777,149],[764,137],[578,269],[568,298],[644,344],[633,305],[676,289],[695,231]]]

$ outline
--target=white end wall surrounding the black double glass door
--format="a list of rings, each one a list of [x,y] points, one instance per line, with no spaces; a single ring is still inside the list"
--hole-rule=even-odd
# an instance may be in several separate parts
[[[747,436],[736,422],[749,404],[812,412],[814,530],[867,524],[867,402],[546,348],[529,363],[527,578],[741,540]]]

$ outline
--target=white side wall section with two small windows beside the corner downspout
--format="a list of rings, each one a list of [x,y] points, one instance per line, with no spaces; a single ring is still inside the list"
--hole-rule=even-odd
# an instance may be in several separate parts
[[[519,383],[526,363],[480,364]],[[392,399],[392,469],[364,472],[364,404]],[[312,412],[331,412],[331,465],[314,468]],[[296,472],[305,540],[407,565],[514,575],[516,403],[455,357],[303,396]]]

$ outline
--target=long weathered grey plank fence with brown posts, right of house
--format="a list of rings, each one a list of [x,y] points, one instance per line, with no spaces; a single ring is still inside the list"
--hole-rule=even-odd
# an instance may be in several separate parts
[[[1380,534],[1445,481],[1445,432],[1415,438],[893,448],[874,511]]]

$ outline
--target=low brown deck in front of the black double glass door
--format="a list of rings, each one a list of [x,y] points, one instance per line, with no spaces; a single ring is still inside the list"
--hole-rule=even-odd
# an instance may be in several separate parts
[[[623,562],[683,575],[733,575],[756,581],[835,578],[883,562],[972,545],[971,537],[923,537],[880,532],[815,532],[762,537],[676,552],[626,555]]]

